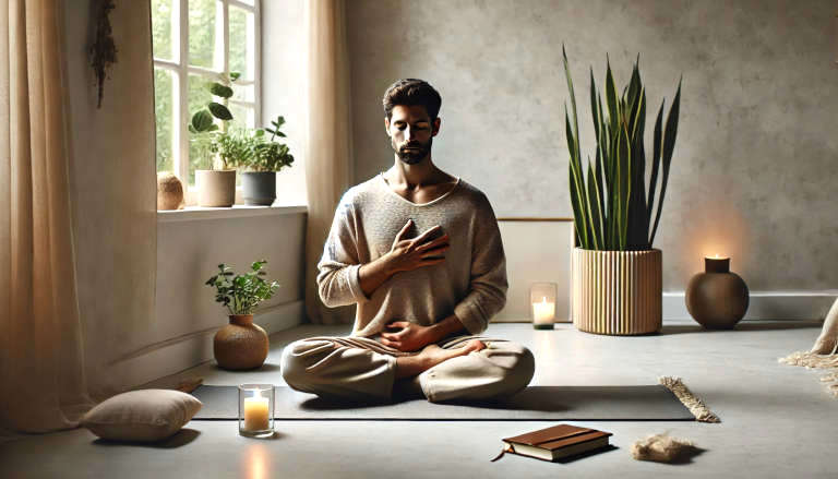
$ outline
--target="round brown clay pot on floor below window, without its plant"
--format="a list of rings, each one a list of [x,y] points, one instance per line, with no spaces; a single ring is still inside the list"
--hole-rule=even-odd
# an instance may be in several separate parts
[[[224,369],[254,369],[267,358],[267,333],[253,324],[253,314],[231,314],[230,324],[215,333],[213,352]]]

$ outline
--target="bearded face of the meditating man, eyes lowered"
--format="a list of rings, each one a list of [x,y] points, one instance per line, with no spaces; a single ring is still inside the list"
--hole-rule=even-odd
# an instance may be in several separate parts
[[[440,119],[431,121],[423,106],[396,105],[384,119],[393,151],[407,165],[422,161],[431,153],[433,136],[440,132]]]

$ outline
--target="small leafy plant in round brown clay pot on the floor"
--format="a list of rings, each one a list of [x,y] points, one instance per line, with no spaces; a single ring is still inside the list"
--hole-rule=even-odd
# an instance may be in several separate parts
[[[253,324],[253,311],[279,288],[276,282],[262,277],[267,261],[251,264],[251,271],[234,276],[222,263],[218,274],[206,280],[216,290],[215,301],[227,308],[230,323],[218,330],[213,339],[213,354],[218,366],[230,370],[254,369],[267,358],[268,340],[265,330]]]

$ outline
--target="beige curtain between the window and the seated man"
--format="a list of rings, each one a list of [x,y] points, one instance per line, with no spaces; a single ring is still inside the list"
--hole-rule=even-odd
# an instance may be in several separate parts
[[[335,207],[351,180],[352,144],[345,2],[309,0],[306,184],[306,311],[312,323],[350,323],[355,307],[326,309],[318,295],[316,264]]]

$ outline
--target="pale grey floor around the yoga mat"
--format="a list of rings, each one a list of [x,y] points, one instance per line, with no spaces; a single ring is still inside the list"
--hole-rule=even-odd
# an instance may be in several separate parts
[[[287,421],[273,440],[239,436],[230,421],[192,421],[181,444],[137,446],[97,441],[86,430],[31,436],[0,445],[0,477],[122,478],[554,478],[563,477],[838,477],[838,399],[823,372],[777,363],[809,349],[818,323],[744,323],[737,331],[703,332],[666,326],[660,335],[608,337],[570,325],[552,332],[523,324],[494,324],[489,333],[524,343],[537,358],[534,384],[654,384],[679,375],[718,414],[722,423],[575,422],[613,432],[616,448],[567,464],[507,456],[489,459],[500,438],[543,428],[546,422]],[[292,338],[340,334],[302,326],[272,336],[262,371],[231,373],[212,363],[179,378],[207,384],[274,382],[279,351]],[[632,459],[631,444],[669,432],[706,451],[684,465]],[[661,476],[662,475],[662,476]]]

